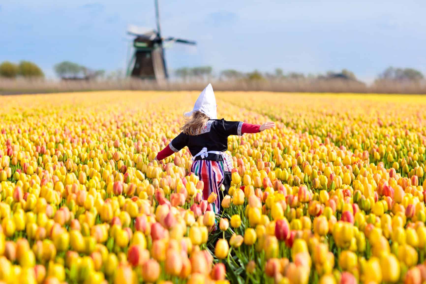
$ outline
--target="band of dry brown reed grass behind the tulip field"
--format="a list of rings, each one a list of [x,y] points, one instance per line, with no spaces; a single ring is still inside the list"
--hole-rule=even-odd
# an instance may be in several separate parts
[[[425,82],[398,83],[382,81],[366,85],[345,80],[259,80],[212,81],[215,90],[272,91],[316,93],[406,93],[426,94]],[[90,90],[202,90],[205,81],[155,82],[138,79],[105,81],[49,81],[0,79],[0,94],[57,93]]]

